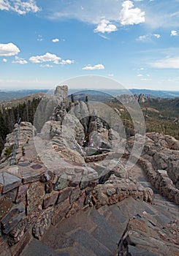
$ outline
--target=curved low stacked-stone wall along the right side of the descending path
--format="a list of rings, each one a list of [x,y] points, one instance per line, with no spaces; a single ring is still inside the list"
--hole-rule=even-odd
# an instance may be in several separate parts
[[[172,202],[179,205],[179,189],[175,187],[172,180],[169,178],[166,170],[154,170],[151,162],[140,157],[138,164],[145,171],[148,181],[151,182],[161,195],[167,197]]]

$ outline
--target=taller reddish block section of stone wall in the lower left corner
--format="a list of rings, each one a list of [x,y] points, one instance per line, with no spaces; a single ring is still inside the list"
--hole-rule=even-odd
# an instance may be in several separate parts
[[[12,168],[0,173],[0,255],[15,256],[32,236],[40,239],[51,224],[88,207],[98,181],[67,181],[50,170],[28,170],[18,178]]]

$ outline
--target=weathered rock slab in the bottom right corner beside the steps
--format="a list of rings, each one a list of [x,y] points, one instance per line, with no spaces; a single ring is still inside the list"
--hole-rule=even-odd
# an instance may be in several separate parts
[[[129,220],[118,244],[118,256],[126,255],[178,255],[178,221],[165,227],[146,212]]]

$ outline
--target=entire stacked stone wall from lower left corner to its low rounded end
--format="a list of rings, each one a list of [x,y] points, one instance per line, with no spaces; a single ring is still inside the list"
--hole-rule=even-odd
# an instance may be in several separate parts
[[[7,167],[0,173],[0,255],[18,256],[33,236],[40,239],[50,225],[88,206],[99,208],[126,197],[152,200],[150,190],[128,178],[112,175],[105,184],[98,179],[77,182],[39,164],[21,168]]]

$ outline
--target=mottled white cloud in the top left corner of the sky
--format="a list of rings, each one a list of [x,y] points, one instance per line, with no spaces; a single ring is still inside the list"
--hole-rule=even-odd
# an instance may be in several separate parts
[[[40,8],[34,0],[1,0],[0,10],[18,12],[20,15],[25,15],[28,12],[39,12]]]

